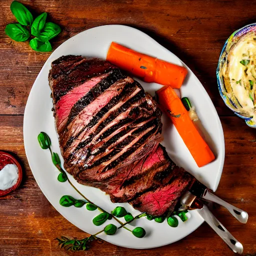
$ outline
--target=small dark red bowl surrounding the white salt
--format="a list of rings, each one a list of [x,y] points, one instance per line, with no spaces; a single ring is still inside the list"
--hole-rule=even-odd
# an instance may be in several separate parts
[[[21,165],[19,164],[19,162],[16,160],[16,158],[14,158],[14,156],[12,156],[11,154],[9,154],[7,152],[0,151],[0,171],[8,163],[13,163],[17,166],[18,179],[17,179],[17,182],[12,187],[10,187],[6,190],[0,190],[0,196],[9,194],[10,192],[17,189],[17,187],[20,185],[21,180],[22,180],[22,168],[21,168]]]

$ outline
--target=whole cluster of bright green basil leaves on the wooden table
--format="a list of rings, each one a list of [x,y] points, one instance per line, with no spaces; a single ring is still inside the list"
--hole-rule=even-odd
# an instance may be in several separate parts
[[[7,24],[5,33],[15,41],[25,41],[31,35],[29,45],[36,51],[51,51],[49,40],[61,32],[59,25],[46,22],[47,13],[43,12],[33,20],[30,11],[20,2],[13,1],[10,10],[19,23]]]

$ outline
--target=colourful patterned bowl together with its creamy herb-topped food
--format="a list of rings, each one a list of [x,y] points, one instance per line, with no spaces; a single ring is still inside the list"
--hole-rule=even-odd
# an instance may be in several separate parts
[[[219,57],[217,80],[226,105],[256,127],[256,23],[227,39]]]

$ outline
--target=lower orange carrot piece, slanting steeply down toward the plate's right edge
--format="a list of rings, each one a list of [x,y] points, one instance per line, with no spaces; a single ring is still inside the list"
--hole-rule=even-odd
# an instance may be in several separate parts
[[[157,90],[156,94],[161,109],[172,120],[197,165],[201,167],[213,161],[215,156],[200,136],[193,121],[189,117],[188,111],[174,90],[170,86],[164,86]]]

